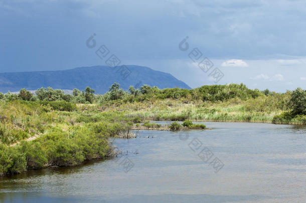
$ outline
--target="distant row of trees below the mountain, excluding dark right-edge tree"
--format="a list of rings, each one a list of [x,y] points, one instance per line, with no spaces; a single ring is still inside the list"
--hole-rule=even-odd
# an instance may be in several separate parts
[[[140,101],[155,101],[155,100],[182,100],[185,102],[190,101],[229,101],[233,98],[241,100],[247,100],[250,98],[257,98],[259,96],[274,96],[276,93],[271,93],[269,90],[260,92],[259,90],[248,89],[243,84],[229,84],[229,85],[206,85],[200,88],[188,90],[180,88],[165,88],[159,89],[158,87],[150,87],[149,85],[143,85],[140,90],[130,86],[128,92],[125,92],[120,88],[118,83],[114,83],[109,88],[109,91],[104,95],[94,95],[94,90],[90,87],[86,87],[83,92],[78,89],[72,91],[72,95],[64,94],[62,90],[54,90],[51,87],[40,88],[36,90],[35,98],[31,96],[31,93],[25,89],[21,90],[18,95],[7,93],[4,98],[6,101],[13,101],[18,98],[31,101],[59,101],[65,100],[73,103],[104,103],[109,104],[109,101],[124,101],[124,102],[140,102]],[[31,97],[30,97],[31,96]],[[0,95],[0,99],[1,99]]]

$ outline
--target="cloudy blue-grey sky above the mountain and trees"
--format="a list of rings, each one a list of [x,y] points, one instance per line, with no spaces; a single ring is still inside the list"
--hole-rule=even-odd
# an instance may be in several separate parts
[[[95,54],[104,45],[121,64],[192,88],[306,89],[305,19],[299,0],[0,0],[0,72],[105,65]],[[199,67],[204,59],[211,69]]]

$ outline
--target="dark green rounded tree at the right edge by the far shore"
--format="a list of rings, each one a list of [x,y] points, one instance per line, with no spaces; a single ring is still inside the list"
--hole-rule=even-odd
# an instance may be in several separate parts
[[[291,99],[289,102],[290,107],[292,108],[292,113],[297,114],[306,114],[306,90],[297,88],[291,93]]]

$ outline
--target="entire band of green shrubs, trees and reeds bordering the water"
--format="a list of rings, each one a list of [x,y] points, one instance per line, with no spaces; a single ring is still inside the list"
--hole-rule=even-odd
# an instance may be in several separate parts
[[[275,93],[243,84],[124,91],[115,83],[104,95],[89,87],[72,95],[52,88],[36,95],[25,89],[0,93],[0,175],[108,156],[109,137],[141,126],[176,131],[206,128],[193,121],[306,124],[305,114],[305,90]],[[174,122],[161,126],[149,120]]]

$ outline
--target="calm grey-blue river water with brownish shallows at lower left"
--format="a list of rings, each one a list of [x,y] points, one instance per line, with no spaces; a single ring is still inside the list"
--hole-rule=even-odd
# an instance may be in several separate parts
[[[116,139],[124,155],[113,159],[1,178],[0,201],[306,202],[306,127],[205,124]]]

